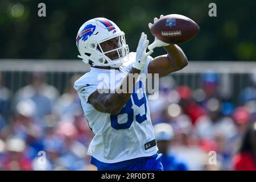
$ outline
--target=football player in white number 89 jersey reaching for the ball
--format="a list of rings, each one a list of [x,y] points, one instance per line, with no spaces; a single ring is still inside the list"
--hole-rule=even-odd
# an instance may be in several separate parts
[[[156,20],[158,18],[154,22]],[[148,27],[151,26],[149,23]],[[76,45],[79,57],[91,65],[90,72],[74,85],[90,129],[95,134],[88,148],[90,163],[98,170],[163,170],[147,97],[144,92],[137,93],[135,85],[145,89],[144,82],[139,79],[141,74],[158,73],[163,77],[183,69],[188,61],[182,49],[157,38],[148,46],[147,35],[142,32],[137,52],[129,53],[124,32],[106,18],[94,18],[82,24]],[[152,58],[150,54],[155,47],[163,47],[167,54]],[[121,86],[114,88],[115,92],[105,92],[113,90],[110,85],[113,79],[98,78],[101,73],[110,77],[110,72],[125,73]],[[130,79],[131,84],[128,84],[134,75],[138,76]],[[105,88],[98,88],[98,85]],[[123,85],[127,85],[127,92],[120,92]]]

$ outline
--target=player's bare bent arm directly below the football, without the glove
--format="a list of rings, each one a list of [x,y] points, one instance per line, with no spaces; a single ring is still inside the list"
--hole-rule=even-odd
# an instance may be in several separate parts
[[[148,73],[159,73],[159,77],[163,77],[188,65],[188,59],[179,46],[170,44],[164,49],[167,55],[155,57],[148,64]]]

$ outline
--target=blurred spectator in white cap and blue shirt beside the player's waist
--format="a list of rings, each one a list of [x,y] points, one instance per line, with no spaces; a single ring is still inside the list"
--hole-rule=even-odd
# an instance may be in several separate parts
[[[159,123],[154,126],[155,138],[158,143],[159,153],[163,154],[162,164],[166,171],[186,171],[187,165],[176,155],[169,151],[171,140],[174,138],[174,131],[171,125]]]

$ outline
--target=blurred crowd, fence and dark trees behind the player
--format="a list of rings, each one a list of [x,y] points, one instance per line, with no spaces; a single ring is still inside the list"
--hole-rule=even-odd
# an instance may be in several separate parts
[[[95,170],[86,155],[93,133],[73,89],[90,70],[77,59],[77,31],[103,16],[135,51],[142,31],[154,40],[147,24],[155,16],[182,14],[200,26],[179,45],[189,65],[161,78],[149,101],[164,168],[256,170],[256,2],[214,1],[210,17],[211,2],[1,0],[0,169]]]

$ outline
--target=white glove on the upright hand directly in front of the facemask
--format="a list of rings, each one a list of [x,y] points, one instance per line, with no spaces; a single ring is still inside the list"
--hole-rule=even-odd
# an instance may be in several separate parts
[[[146,65],[147,56],[154,52],[153,50],[146,52],[148,44],[147,35],[142,32],[137,47],[136,61],[133,63],[134,68],[142,70]]]

